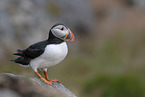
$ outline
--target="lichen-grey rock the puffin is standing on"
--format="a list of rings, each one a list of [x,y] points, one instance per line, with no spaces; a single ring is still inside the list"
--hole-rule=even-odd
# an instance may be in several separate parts
[[[0,74],[0,97],[76,97],[61,83],[48,85],[39,78]]]

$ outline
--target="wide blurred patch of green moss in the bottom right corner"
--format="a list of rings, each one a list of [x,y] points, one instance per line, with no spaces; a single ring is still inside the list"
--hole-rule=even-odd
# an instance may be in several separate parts
[[[102,97],[144,97],[145,95],[145,88],[136,76],[101,75],[93,77],[85,84],[84,93],[97,95],[97,91],[100,91]]]

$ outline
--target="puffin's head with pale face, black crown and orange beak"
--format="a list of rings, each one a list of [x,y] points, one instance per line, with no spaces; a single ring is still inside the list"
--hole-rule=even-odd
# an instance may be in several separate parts
[[[51,28],[51,32],[54,36],[56,36],[62,40],[65,40],[65,41],[74,41],[75,40],[74,34],[64,24],[55,24]]]

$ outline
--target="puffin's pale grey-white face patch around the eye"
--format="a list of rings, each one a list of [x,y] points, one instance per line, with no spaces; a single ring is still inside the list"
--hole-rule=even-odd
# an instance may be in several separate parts
[[[64,37],[69,34],[69,29],[64,25],[57,25],[52,28],[51,31],[56,37],[61,39],[64,39]]]

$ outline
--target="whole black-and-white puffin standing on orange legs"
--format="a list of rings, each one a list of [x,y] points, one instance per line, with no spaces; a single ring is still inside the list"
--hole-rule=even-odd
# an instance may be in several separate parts
[[[47,68],[60,63],[66,57],[68,53],[66,41],[75,41],[74,34],[66,25],[55,24],[48,31],[48,39],[32,44],[24,50],[17,49],[13,55],[19,57],[11,61],[23,67],[31,67],[38,77],[52,85],[52,81],[59,81],[48,78]],[[44,72],[45,78],[40,75],[38,69]]]

